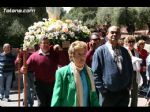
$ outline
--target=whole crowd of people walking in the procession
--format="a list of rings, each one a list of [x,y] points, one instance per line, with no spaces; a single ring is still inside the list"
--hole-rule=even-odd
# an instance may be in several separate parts
[[[27,71],[28,107],[34,105],[35,96],[39,107],[137,107],[138,91],[145,88],[149,101],[150,55],[145,41],[136,42],[133,35],[122,39],[118,26],[110,26],[105,35],[92,32],[89,42],[51,45],[46,36],[39,42],[35,49],[27,49],[27,66],[23,51],[14,57],[10,44],[4,44],[0,100],[10,100],[12,76],[20,64],[22,75]]]

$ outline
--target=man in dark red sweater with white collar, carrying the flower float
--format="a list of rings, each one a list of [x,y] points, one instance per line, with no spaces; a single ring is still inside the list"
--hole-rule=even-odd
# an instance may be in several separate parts
[[[27,66],[35,74],[35,89],[38,106],[50,106],[55,82],[55,72],[58,67],[58,54],[49,47],[46,36],[40,39],[40,49],[27,60]]]

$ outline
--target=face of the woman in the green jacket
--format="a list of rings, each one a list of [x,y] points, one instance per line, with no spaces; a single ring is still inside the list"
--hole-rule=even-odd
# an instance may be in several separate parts
[[[84,67],[86,63],[86,52],[87,49],[78,49],[75,51],[73,56],[73,62],[77,67]]]

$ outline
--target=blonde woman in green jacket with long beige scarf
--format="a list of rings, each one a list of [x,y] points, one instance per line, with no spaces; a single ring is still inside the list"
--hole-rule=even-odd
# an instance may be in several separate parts
[[[51,106],[99,106],[91,69],[86,65],[87,44],[73,42],[70,63],[56,71]]]

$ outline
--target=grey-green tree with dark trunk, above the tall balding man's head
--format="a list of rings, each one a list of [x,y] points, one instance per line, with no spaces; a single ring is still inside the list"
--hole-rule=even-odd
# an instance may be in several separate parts
[[[127,26],[131,34],[135,31],[137,19],[138,12],[131,7],[99,7],[97,11],[97,23]]]

